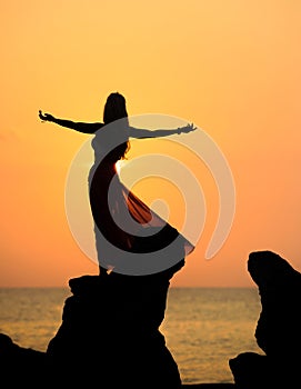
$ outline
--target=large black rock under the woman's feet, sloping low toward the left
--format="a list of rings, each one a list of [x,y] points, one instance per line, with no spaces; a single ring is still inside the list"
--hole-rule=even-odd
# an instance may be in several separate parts
[[[0,336],[1,380],[10,382],[8,388],[181,388],[159,327],[170,279],[183,263],[150,276],[111,272],[70,279],[72,295],[46,352]]]

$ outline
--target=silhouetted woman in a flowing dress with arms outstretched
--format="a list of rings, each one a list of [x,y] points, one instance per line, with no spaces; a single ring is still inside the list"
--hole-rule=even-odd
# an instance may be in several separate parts
[[[141,253],[154,252],[152,257],[144,257],[146,261],[158,262],[158,266],[153,263],[150,268],[151,273],[155,269],[177,263],[178,260],[171,257],[175,256],[180,261],[193,249],[177,229],[119,180],[117,171],[117,162],[126,158],[130,148],[130,138],[187,133],[195,129],[193,124],[174,130],[133,128],[129,124],[126,99],[118,92],[111,93],[107,99],[103,122],[74,122],[41,111],[39,117],[43,121],[94,136],[94,163],[89,173],[89,196],[101,275],[107,275],[112,269],[120,273],[146,273],[148,263],[142,261]],[[168,247],[172,247],[172,250],[168,251]],[[165,267],[160,261],[165,261]]]

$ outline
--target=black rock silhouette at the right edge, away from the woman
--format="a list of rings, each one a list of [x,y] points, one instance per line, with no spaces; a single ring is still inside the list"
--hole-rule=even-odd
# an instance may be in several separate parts
[[[248,270],[261,298],[254,336],[264,353],[247,351],[230,359],[235,385],[300,388],[301,273],[272,251],[250,253]]]

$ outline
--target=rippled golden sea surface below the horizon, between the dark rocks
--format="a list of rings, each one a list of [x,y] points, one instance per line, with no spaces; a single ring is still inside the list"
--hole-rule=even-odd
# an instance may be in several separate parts
[[[68,288],[0,289],[0,332],[46,351],[61,325]],[[233,383],[229,359],[262,353],[254,330],[261,311],[255,288],[170,288],[160,327],[183,383]]]

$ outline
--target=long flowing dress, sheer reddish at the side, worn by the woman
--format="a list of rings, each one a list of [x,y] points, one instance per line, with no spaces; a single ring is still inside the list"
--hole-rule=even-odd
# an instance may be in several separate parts
[[[102,127],[92,140],[89,196],[98,261],[124,275],[155,273],[182,261],[193,246],[121,182],[118,150],[128,140],[124,123]]]

